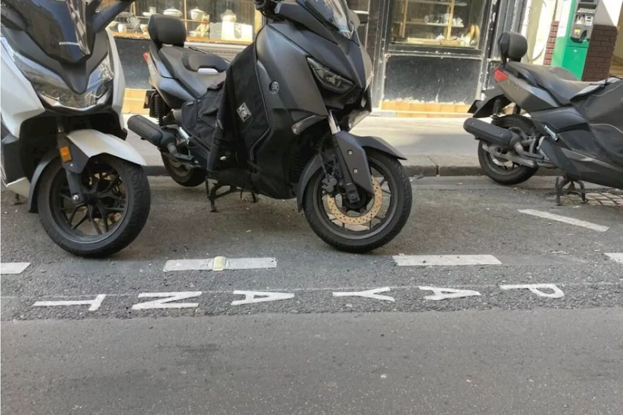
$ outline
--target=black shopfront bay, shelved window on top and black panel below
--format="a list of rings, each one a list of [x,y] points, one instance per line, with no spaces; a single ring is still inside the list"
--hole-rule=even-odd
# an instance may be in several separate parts
[[[487,83],[493,39],[518,29],[522,6],[523,0],[371,0],[377,108],[464,112]]]

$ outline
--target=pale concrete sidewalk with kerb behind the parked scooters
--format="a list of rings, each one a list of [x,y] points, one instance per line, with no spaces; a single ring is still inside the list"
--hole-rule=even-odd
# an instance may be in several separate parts
[[[477,142],[465,133],[463,122],[464,118],[368,117],[353,133],[379,136],[396,146],[407,157],[402,164],[409,176],[477,176],[482,174]],[[131,131],[128,142],[146,158],[148,174],[168,175],[155,146]]]

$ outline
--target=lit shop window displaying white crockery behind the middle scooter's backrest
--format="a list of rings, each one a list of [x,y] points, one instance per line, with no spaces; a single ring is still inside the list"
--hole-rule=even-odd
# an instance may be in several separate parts
[[[103,0],[100,8],[115,0]],[[188,42],[249,44],[262,26],[253,0],[138,0],[109,26],[115,37],[148,38],[151,14],[183,19]]]

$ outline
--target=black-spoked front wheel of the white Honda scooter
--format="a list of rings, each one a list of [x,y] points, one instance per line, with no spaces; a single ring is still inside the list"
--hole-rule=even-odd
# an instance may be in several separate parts
[[[102,258],[124,249],[140,234],[151,207],[150,184],[141,166],[101,155],[81,174],[84,203],[75,203],[60,160],[45,169],[37,192],[39,217],[50,239],[81,257]]]

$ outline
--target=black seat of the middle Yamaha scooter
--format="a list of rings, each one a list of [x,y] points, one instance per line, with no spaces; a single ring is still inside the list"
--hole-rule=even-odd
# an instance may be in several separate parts
[[[229,66],[218,55],[188,47],[163,46],[158,57],[194,98],[206,95],[207,88],[220,82]]]

